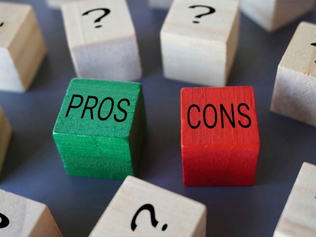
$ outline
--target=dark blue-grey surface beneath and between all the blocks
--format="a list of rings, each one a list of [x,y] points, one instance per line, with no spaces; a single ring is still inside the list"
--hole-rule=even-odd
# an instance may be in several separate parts
[[[0,104],[13,128],[0,189],[46,203],[65,237],[85,237],[122,181],[65,173],[52,130],[75,72],[61,12],[48,9],[44,0],[16,2],[35,8],[48,54],[27,93],[0,92]],[[149,131],[138,177],[206,204],[207,236],[271,237],[302,163],[316,164],[316,128],[269,111],[277,65],[299,22],[315,22],[316,11],[274,34],[242,15],[228,85],[255,89],[261,137],[256,183],[189,188],[182,184],[180,89],[194,85],[162,76],[159,31],[166,11],[149,9],[146,0],[128,3],[143,63]]]

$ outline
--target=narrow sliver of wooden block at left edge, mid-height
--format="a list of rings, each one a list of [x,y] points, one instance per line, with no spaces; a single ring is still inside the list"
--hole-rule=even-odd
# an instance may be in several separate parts
[[[0,173],[9,146],[12,131],[11,126],[0,107]]]

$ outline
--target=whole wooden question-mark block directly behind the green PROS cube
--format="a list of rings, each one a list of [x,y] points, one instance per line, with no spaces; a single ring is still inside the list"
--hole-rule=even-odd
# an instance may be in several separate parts
[[[98,8],[110,10],[100,21],[96,20],[106,12],[95,10]],[[71,2],[62,5],[62,12],[78,77],[105,80],[141,78],[135,29],[125,0]]]

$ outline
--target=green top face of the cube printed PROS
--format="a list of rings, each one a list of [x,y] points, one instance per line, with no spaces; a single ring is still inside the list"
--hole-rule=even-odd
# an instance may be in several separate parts
[[[127,139],[141,93],[137,82],[72,79],[53,133]]]

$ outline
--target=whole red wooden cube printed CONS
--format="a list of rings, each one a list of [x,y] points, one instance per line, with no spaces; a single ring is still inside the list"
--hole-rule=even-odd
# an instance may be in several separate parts
[[[253,87],[183,88],[181,146],[185,185],[253,185],[260,149]]]

